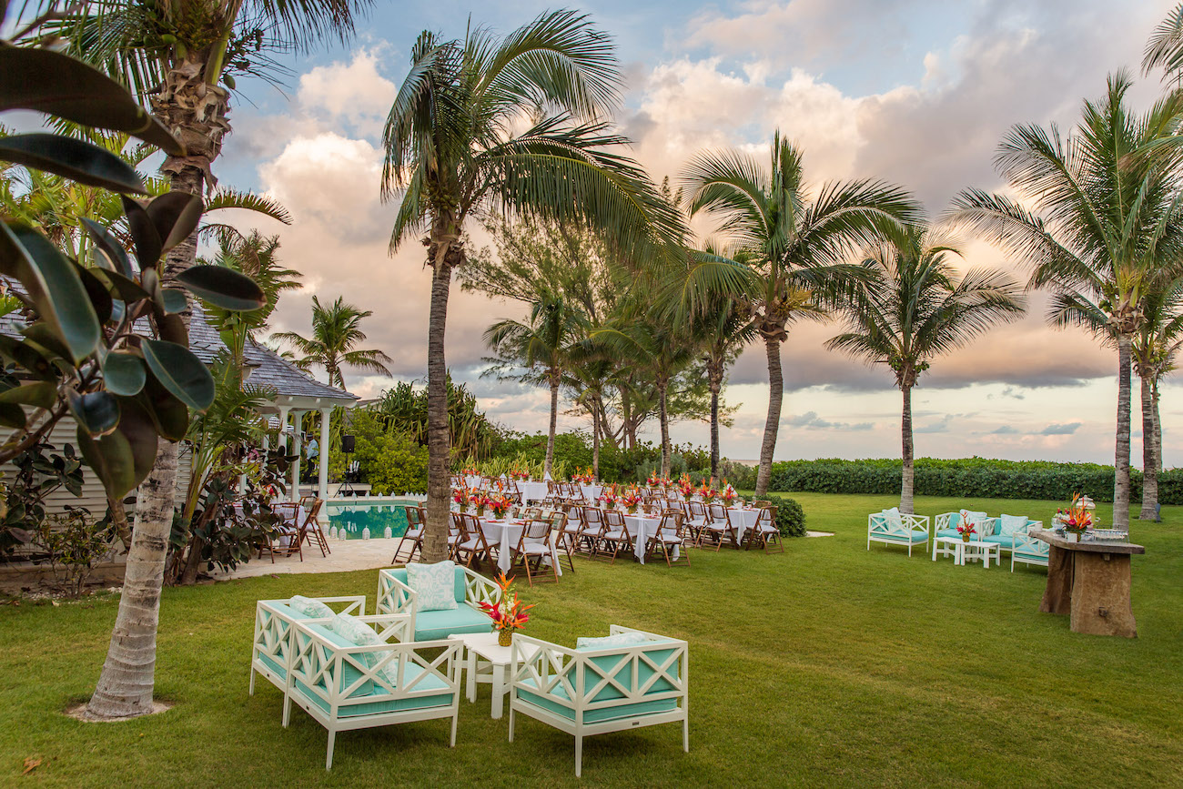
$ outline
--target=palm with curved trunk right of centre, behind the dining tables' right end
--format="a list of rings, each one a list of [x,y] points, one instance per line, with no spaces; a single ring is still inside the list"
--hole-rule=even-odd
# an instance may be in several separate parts
[[[788,325],[819,313],[816,290],[832,280],[846,253],[874,241],[878,226],[911,221],[918,209],[901,189],[880,181],[826,183],[814,195],[801,150],[777,131],[767,169],[741,151],[704,151],[681,176],[691,215],[719,220],[736,247],[749,251],[761,273],[749,311],[768,355],[768,420],[759,451],[756,494],[768,492],[781,421],[784,380],[781,343]]]

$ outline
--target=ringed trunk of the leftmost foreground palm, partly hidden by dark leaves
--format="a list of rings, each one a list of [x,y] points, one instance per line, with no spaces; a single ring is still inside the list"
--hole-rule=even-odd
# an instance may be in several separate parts
[[[226,122],[228,93],[201,78],[202,65],[186,62],[166,75],[161,91],[153,97],[155,115],[186,144],[188,155],[164,160],[161,172],[169,176],[174,192],[201,195],[209,164],[221,150],[221,138],[230,130]],[[196,75],[196,76],[195,76]],[[173,247],[163,263],[163,284],[193,266],[198,257],[194,232]],[[141,265],[149,265],[141,261]],[[192,311],[181,312],[186,329]],[[96,719],[129,718],[153,711],[156,679],[156,627],[160,596],[164,583],[173,510],[176,502],[177,444],[160,439],[156,460],[136,494],[136,517],[123,576],[119,612],[111,630],[103,671],[86,714]]]

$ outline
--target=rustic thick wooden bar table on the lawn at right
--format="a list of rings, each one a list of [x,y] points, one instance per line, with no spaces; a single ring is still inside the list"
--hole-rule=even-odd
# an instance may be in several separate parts
[[[1073,633],[1137,638],[1130,603],[1130,556],[1146,549],[1121,542],[1068,542],[1046,529],[1033,531],[1051,549],[1047,589],[1039,609],[1071,614]]]

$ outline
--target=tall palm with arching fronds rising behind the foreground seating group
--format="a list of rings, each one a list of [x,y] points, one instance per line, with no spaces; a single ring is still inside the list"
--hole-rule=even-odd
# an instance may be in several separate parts
[[[392,250],[426,232],[432,269],[424,561],[435,562],[447,555],[447,297],[467,260],[467,221],[497,209],[596,228],[639,259],[655,237],[678,241],[684,228],[603,119],[619,104],[621,76],[610,39],[587,17],[545,13],[500,40],[485,30],[464,40],[425,31],[411,63],[383,135],[382,196],[403,190]]]

